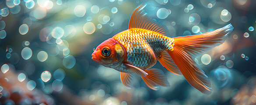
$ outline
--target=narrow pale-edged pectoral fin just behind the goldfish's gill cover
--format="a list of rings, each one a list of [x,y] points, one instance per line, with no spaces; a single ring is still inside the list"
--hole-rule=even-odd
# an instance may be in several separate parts
[[[139,67],[136,67],[136,66],[133,66],[133,65],[130,65],[130,64],[127,64],[127,63],[124,63],[124,64],[127,65],[127,68],[129,70],[131,70],[132,73],[135,73],[138,76],[146,77],[148,75],[148,73],[146,73],[144,70],[141,70]]]

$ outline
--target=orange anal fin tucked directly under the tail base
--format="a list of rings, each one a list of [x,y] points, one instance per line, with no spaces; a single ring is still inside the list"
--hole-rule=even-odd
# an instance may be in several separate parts
[[[162,64],[162,66],[164,66],[167,70],[171,71],[172,73],[176,75],[182,75],[178,66],[171,59],[171,56],[168,54],[168,52],[166,51],[161,52],[161,56],[158,59],[158,61]]]

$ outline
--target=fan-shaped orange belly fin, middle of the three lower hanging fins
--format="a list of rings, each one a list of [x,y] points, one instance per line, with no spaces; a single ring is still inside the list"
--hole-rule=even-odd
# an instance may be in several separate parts
[[[145,71],[148,73],[146,78],[149,79],[150,81],[152,81],[160,86],[163,86],[163,87],[170,87],[170,84],[167,81],[167,77],[164,75],[163,70],[148,69]]]

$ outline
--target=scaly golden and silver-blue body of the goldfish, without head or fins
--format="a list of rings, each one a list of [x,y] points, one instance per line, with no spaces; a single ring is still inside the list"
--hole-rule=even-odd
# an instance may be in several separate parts
[[[173,38],[140,28],[123,31],[113,38],[126,49],[127,63],[143,70],[156,63],[160,57],[160,52],[171,50],[174,46]]]

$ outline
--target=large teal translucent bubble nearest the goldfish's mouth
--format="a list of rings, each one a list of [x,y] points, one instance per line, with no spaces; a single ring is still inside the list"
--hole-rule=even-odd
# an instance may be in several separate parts
[[[71,69],[73,66],[75,66],[75,57],[68,55],[66,57],[64,57],[64,59],[62,60],[63,66]]]

